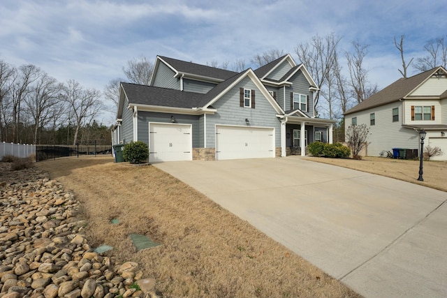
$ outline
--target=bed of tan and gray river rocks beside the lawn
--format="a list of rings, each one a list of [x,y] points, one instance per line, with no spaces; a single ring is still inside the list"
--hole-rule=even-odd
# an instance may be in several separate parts
[[[0,298],[158,297],[136,262],[96,253],[73,193],[0,163]]]

